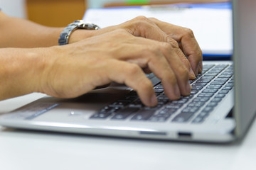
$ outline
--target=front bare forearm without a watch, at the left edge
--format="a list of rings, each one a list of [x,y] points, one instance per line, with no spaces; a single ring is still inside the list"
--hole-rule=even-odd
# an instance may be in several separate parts
[[[0,49],[0,100],[39,92],[44,49]]]

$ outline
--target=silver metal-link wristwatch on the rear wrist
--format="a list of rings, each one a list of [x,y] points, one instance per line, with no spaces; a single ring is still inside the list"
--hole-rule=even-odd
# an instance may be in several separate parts
[[[99,30],[100,27],[93,23],[86,23],[83,20],[76,20],[73,23],[68,24],[68,26],[64,28],[63,32],[60,33],[58,44],[59,45],[68,44],[68,39],[70,38],[70,34],[77,29]]]

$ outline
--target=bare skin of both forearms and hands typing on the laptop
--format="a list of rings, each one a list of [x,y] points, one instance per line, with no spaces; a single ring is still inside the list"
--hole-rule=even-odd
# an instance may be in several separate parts
[[[41,92],[74,98],[115,81],[137,91],[146,106],[156,96],[144,72],[161,79],[171,100],[190,94],[203,69],[188,28],[139,16],[101,30],[75,30],[58,46],[63,28],[48,28],[0,13],[0,100]]]

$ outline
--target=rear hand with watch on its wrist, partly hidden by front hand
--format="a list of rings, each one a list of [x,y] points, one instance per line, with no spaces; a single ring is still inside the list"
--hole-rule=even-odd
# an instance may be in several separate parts
[[[156,18],[139,16],[118,26],[110,26],[91,32],[87,31],[86,36],[88,36],[88,34],[94,36],[109,33],[112,30],[120,28],[127,30],[128,33],[138,37],[168,42],[174,50],[172,55],[178,56],[188,69],[190,79],[194,79],[195,75],[202,71],[203,55],[198,42],[193,35],[193,31],[188,28],[174,26],[170,23],[159,21]],[[82,40],[82,32],[83,30],[75,30],[70,37],[70,42]]]

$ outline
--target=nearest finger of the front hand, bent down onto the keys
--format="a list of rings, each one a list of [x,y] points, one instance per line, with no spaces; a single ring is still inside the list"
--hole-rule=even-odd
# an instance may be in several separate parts
[[[157,100],[153,84],[137,64],[112,60],[107,68],[107,77],[137,91],[139,98],[146,106],[156,106]]]

